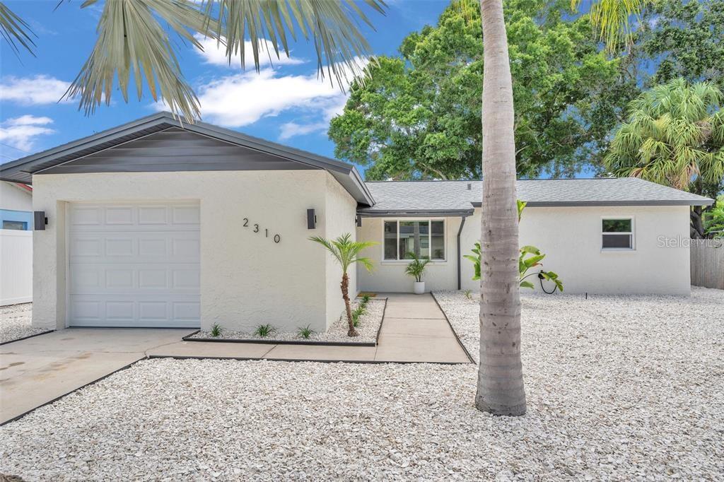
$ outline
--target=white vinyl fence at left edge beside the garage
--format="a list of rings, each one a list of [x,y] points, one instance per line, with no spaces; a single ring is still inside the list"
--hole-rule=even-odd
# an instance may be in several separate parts
[[[0,306],[33,301],[33,232],[0,229]]]

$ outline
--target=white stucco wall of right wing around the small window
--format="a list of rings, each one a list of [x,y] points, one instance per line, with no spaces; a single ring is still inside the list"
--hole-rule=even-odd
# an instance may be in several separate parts
[[[601,249],[601,219],[617,216],[633,216],[635,250]],[[463,253],[479,240],[479,232],[476,209],[463,230]],[[521,245],[534,245],[546,255],[542,268],[560,276],[566,293],[689,295],[689,248],[660,247],[660,237],[689,237],[688,206],[528,207],[520,225]],[[463,259],[463,289],[478,291],[472,274],[472,263]],[[540,289],[538,279],[531,280]]]

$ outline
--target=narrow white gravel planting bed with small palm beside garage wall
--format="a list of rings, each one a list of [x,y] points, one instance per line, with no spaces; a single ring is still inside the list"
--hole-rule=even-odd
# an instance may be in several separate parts
[[[213,337],[211,331],[199,331],[190,338],[215,338],[215,339],[253,339],[264,340],[265,342],[274,343],[275,340],[287,342],[336,342],[336,343],[374,343],[377,341],[377,332],[382,324],[382,316],[384,314],[384,298],[371,298],[367,303],[367,311],[360,316],[358,326],[355,328],[359,334],[358,337],[348,337],[348,321],[347,313],[344,311],[340,318],[329,327],[326,333],[315,332],[309,338],[302,338],[297,332],[273,331],[268,337],[259,337],[248,331],[232,331],[225,330],[218,337]],[[352,310],[357,308],[359,300],[354,300]]]

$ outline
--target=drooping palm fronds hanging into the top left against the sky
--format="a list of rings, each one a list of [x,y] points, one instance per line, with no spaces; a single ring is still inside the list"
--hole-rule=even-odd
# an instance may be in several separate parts
[[[384,13],[383,0],[364,2]],[[81,8],[98,3],[85,0]],[[199,49],[195,34],[216,38],[229,62],[239,55],[242,65],[244,42],[249,40],[257,70],[260,50],[273,50],[277,58],[282,50],[289,56],[289,38],[303,37],[314,45],[321,75],[327,69],[342,86],[345,77],[361,75],[359,57],[369,55],[358,22],[371,26],[353,0],[106,0],[96,44],[65,96],[77,96],[80,109],[90,114],[101,103],[110,103],[117,76],[125,101],[131,83],[138,98],[146,83],[154,101],[160,98],[190,122],[199,119],[198,98],[182,75],[169,31]],[[22,47],[32,53],[35,44],[28,24],[2,2],[0,35],[14,50]]]

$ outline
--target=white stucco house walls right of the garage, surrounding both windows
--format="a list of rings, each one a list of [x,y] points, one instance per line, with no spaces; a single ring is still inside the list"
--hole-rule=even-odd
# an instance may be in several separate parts
[[[463,255],[470,254],[480,239],[480,209],[466,219],[460,234]],[[633,216],[635,250],[601,249],[601,219]],[[382,218],[365,218],[357,230],[358,240],[382,243]],[[457,234],[460,218],[446,219],[447,261],[430,263],[424,277],[428,290],[457,289]],[[688,206],[647,207],[561,207],[523,211],[521,245],[534,245],[546,258],[543,269],[555,271],[566,293],[661,293],[689,295],[689,248],[661,247],[662,237],[689,237]],[[412,279],[405,276],[406,261],[382,261],[382,244],[366,250],[373,258],[373,274],[359,272],[364,291],[411,292]],[[531,271],[532,272],[532,271]],[[478,292],[473,281],[473,263],[463,258],[460,266],[462,289]],[[536,276],[530,280],[540,290]],[[552,287],[546,283],[547,289]],[[523,289],[522,293],[529,292]]]

